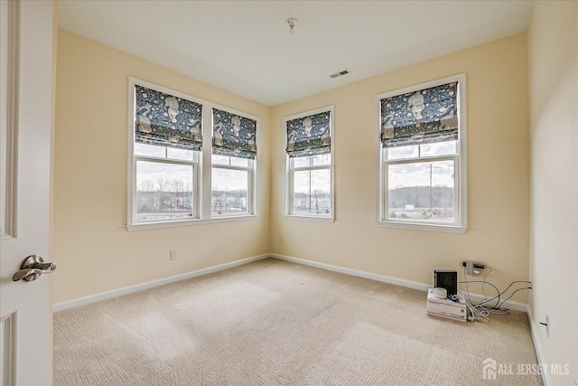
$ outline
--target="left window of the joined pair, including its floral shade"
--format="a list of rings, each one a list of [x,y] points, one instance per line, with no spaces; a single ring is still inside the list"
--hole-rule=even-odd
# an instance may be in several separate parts
[[[202,105],[136,84],[134,98],[132,223],[198,218]]]

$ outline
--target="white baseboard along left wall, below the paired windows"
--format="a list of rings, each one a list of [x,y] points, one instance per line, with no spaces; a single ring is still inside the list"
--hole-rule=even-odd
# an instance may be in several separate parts
[[[188,278],[198,278],[203,275],[209,275],[210,273],[219,272],[223,269],[234,268],[242,266],[244,264],[251,263],[253,261],[269,258],[271,255],[268,253],[263,255],[254,256],[252,258],[240,259],[236,261],[231,261],[225,264],[219,264],[218,266],[213,266],[209,268],[202,268],[195,271],[183,273],[181,275],[172,276],[171,278],[160,278],[158,280],[149,281],[142,284],[136,284],[135,286],[123,287],[118,289],[113,289],[107,292],[101,292],[96,295],[90,295],[88,297],[79,297],[77,299],[68,300],[61,303],[55,303],[52,305],[52,311],[58,312],[65,309],[69,309],[77,306],[84,306],[90,303],[99,302],[101,300],[107,300],[114,297],[122,297],[123,295],[132,294],[134,292],[143,291],[144,289],[161,287],[166,284],[175,283],[177,281],[186,280]]]

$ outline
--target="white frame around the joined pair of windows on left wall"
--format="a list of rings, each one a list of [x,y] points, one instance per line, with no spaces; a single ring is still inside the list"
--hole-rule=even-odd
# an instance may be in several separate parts
[[[188,99],[202,106],[202,148],[197,155],[193,156],[193,160],[186,161],[180,159],[167,159],[148,155],[135,155],[135,85],[143,86],[147,89],[155,89],[172,96]],[[227,108],[207,100],[192,97],[174,89],[168,89],[157,84],[139,80],[133,77],[128,78],[128,144],[127,144],[127,207],[126,207],[126,229],[128,231],[140,231],[147,229],[163,229],[181,226],[191,226],[198,224],[207,224],[215,222],[228,221],[251,221],[258,218],[257,205],[257,161],[258,154],[255,159],[250,159],[250,167],[244,168],[249,170],[249,182],[247,184],[248,196],[247,200],[249,208],[247,212],[239,214],[224,214],[218,216],[211,215],[211,197],[212,197],[212,136],[213,136],[213,108],[227,111],[232,114],[240,115],[246,118],[251,118],[256,121],[256,145],[259,148],[259,118],[238,111],[232,108]],[[137,161],[152,161],[163,162],[172,165],[192,165],[193,166],[193,212],[190,218],[179,219],[163,219],[155,221],[136,221],[136,162]],[[218,164],[217,164],[218,165]]]

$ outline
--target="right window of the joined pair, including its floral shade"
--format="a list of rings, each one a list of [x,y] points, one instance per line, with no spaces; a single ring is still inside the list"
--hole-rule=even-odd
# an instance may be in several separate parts
[[[213,108],[211,216],[253,209],[256,120]]]

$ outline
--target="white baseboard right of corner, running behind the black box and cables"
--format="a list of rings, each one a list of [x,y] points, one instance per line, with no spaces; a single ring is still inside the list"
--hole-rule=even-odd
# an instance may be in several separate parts
[[[331,264],[319,263],[317,261],[312,261],[312,260],[297,259],[297,258],[293,258],[291,256],[284,256],[284,255],[279,255],[276,253],[272,253],[270,256],[272,258],[275,258],[275,259],[291,261],[291,262],[294,262],[297,264],[303,264],[304,266],[327,269],[327,270],[331,270],[334,272],[340,272],[340,273],[343,273],[346,275],[357,276],[359,278],[369,278],[371,280],[381,281],[381,282],[387,283],[387,284],[394,284],[396,286],[401,286],[401,287],[414,288],[414,289],[418,289],[420,291],[427,291],[429,288],[432,287],[431,284],[419,283],[417,281],[406,280],[403,278],[392,278],[390,276],[378,275],[375,273],[370,273],[370,272],[361,271],[361,270],[357,270],[357,269],[333,266]],[[470,294],[470,296],[475,300],[483,300],[486,298],[486,297],[479,295],[479,294]],[[519,302],[514,302],[514,301],[508,300],[507,306],[509,309],[512,309],[512,310],[527,312],[527,304],[525,304],[525,303],[519,303]]]

